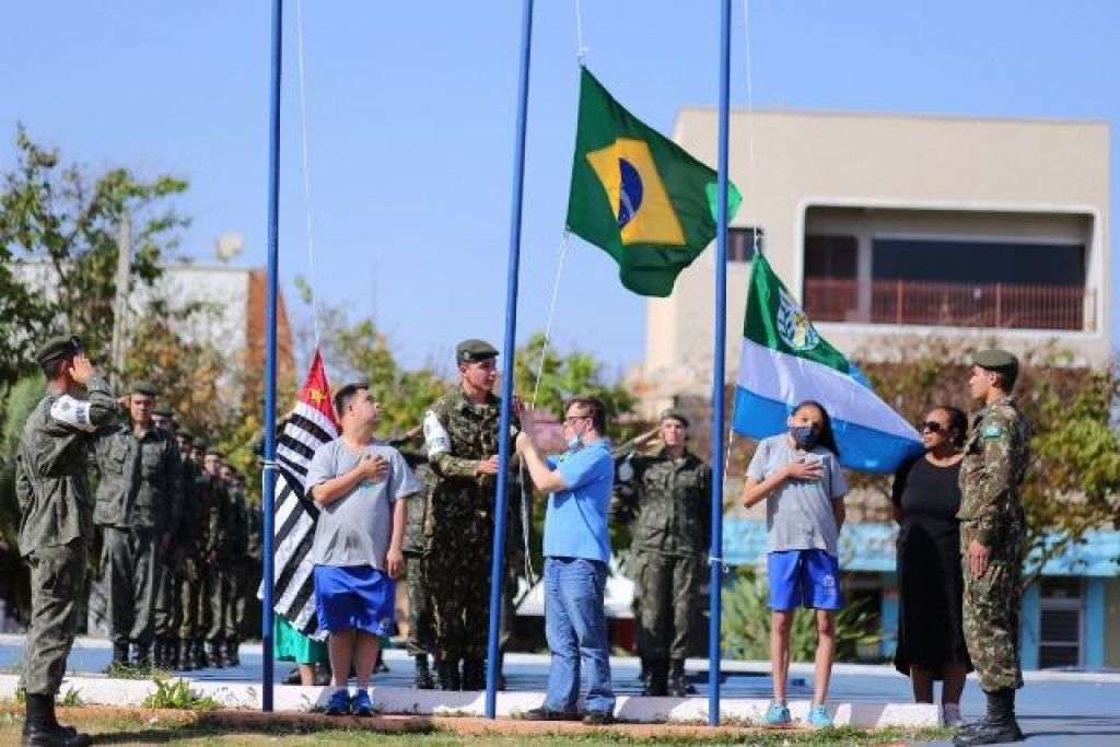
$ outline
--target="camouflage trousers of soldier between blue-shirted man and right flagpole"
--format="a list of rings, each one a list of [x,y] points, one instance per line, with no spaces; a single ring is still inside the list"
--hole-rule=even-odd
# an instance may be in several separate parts
[[[642,603],[638,651],[651,659],[684,659],[692,639],[692,615],[703,572],[699,555],[641,552]]]

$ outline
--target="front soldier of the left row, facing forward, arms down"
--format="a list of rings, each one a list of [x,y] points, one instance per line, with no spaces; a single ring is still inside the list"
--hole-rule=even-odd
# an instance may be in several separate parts
[[[183,506],[179,449],[151,422],[158,391],[137,382],[129,392],[128,426],[97,430],[94,455],[101,482],[93,521],[103,530],[102,579],[109,597],[113,665],[151,666],[157,555],[171,545]]]

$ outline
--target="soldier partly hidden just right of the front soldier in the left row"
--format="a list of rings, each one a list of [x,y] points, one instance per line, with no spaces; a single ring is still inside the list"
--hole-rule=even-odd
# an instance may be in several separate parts
[[[158,430],[167,433],[176,442],[179,451],[178,459],[181,466],[184,456],[183,449],[178,446],[176,438],[175,411],[168,404],[158,404],[151,410],[151,424]],[[186,502],[184,496],[185,485],[181,480],[179,485],[179,510],[175,512],[179,517],[176,526],[168,527],[171,538],[170,547],[166,552],[156,553],[156,648],[152,660],[156,669],[177,669],[179,662],[179,626],[183,624],[183,607],[179,599],[179,587],[183,583],[183,505]]]

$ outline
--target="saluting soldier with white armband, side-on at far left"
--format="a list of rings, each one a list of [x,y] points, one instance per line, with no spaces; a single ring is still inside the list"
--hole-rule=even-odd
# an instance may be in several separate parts
[[[119,411],[76,337],[44,343],[35,356],[47,391],[28,417],[16,454],[19,552],[30,567],[31,619],[24,652],[24,745],[77,747],[90,737],[55,719],[55,695],[77,629],[86,552],[93,541],[86,454],[94,429]],[[85,385],[88,401],[74,398]]]

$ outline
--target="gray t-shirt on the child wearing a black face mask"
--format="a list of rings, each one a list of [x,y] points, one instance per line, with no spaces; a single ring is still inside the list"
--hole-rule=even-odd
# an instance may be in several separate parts
[[[790,446],[785,433],[758,443],[747,477],[764,480],[782,466],[797,459],[820,459],[821,479],[785,480],[766,497],[767,552],[820,549],[838,557],[836,514],[832,499],[848,492],[840,461],[822,446],[802,451]]]

